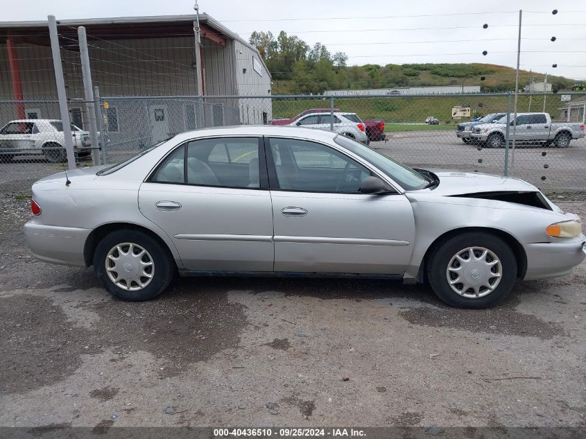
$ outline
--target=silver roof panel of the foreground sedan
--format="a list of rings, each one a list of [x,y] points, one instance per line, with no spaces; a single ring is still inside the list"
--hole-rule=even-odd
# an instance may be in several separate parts
[[[299,126],[287,125],[236,125],[221,126],[213,128],[201,128],[182,132],[175,135],[176,141],[193,139],[194,137],[212,137],[212,136],[291,136],[291,137],[308,137],[309,139],[328,141],[334,139],[338,134],[336,132],[319,130],[317,128],[302,128]]]

